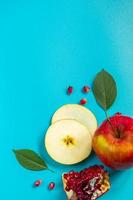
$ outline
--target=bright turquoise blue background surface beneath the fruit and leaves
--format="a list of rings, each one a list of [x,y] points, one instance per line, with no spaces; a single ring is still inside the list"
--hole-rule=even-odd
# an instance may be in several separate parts
[[[43,138],[54,111],[78,103],[83,85],[92,85],[105,68],[117,81],[110,109],[133,114],[133,0],[0,0],[0,198],[65,200],[61,173],[99,163],[95,156],[75,166],[52,161]],[[75,92],[68,97],[66,87]],[[105,118],[92,92],[87,107]],[[22,168],[12,149],[40,153],[55,174]],[[36,179],[43,179],[33,188]],[[48,191],[50,181],[56,183]],[[103,200],[132,199],[133,170],[111,172],[111,190]]]

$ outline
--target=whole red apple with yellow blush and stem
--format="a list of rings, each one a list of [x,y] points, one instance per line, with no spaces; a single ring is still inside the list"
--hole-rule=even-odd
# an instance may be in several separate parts
[[[94,134],[96,155],[114,170],[133,167],[133,118],[116,114],[110,122],[113,128],[105,120]]]

